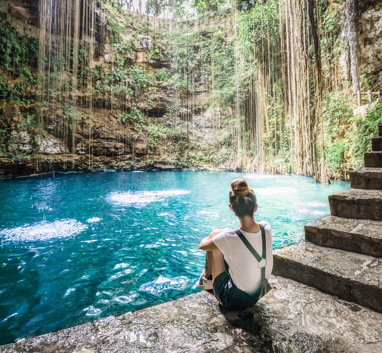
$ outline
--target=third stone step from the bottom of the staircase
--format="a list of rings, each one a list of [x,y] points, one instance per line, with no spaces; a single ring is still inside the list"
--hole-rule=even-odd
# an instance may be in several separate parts
[[[382,221],[382,190],[349,189],[329,196],[332,216]]]

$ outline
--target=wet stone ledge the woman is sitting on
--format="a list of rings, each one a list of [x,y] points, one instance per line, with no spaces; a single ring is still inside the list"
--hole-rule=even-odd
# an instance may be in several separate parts
[[[382,315],[290,279],[254,308],[220,311],[199,292],[151,308],[0,347],[2,353],[293,352],[372,353],[382,349]]]

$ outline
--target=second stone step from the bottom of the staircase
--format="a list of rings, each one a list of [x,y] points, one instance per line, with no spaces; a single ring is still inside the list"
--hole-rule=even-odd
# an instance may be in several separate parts
[[[329,216],[305,226],[305,240],[376,257],[382,257],[382,222]]]

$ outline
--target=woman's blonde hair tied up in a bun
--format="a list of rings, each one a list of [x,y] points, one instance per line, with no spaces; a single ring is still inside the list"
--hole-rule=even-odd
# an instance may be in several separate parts
[[[253,216],[256,205],[255,192],[249,188],[248,182],[241,178],[231,181],[230,204],[236,216]]]

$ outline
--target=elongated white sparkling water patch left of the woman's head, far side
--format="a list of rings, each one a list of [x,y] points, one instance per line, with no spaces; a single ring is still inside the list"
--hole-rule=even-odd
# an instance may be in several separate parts
[[[108,200],[119,206],[146,205],[147,203],[163,201],[165,198],[185,195],[188,190],[159,190],[159,191],[128,191],[112,192]]]

